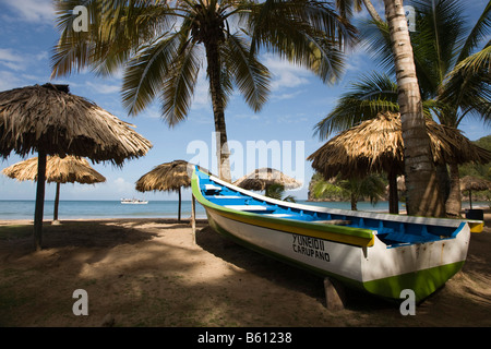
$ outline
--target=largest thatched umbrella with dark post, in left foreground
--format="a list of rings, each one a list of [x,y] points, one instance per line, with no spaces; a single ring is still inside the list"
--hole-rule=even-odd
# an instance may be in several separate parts
[[[125,159],[143,156],[151,147],[131,124],[71,95],[68,85],[34,85],[0,93],[0,156],[38,153],[36,250],[41,242],[47,155],[75,155],[122,166]]]

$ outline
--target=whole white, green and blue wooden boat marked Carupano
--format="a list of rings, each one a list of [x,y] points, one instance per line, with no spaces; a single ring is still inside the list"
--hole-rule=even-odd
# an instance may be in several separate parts
[[[387,299],[421,301],[464,265],[480,220],[330,209],[265,197],[197,169],[194,197],[219,233],[252,250]]]

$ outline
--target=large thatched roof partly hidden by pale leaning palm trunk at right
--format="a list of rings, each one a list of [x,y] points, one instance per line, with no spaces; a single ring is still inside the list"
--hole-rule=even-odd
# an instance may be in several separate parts
[[[491,161],[491,153],[472,144],[459,130],[427,120],[435,164]],[[363,177],[368,172],[404,173],[404,141],[400,117],[381,113],[346,130],[308,157],[312,167],[331,178]]]

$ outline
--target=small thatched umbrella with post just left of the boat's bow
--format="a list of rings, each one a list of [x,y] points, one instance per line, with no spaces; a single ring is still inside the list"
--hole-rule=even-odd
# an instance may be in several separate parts
[[[184,160],[173,160],[156,166],[136,181],[136,190],[175,191],[179,193],[178,220],[181,221],[181,188],[191,186],[191,177],[195,165]],[[203,169],[202,169],[203,170]],[[205,170],[206,171],[206,170]]]

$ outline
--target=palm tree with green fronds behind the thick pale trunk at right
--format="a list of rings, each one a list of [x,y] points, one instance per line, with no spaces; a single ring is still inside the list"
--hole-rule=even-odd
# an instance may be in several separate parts
[[[467,22],[462,16],[463,9],[458,1],[411,3],[418,13],[418,31],[411,34],[411,44],[423,111],[428,117],[434,115],[442,124],[458,128],[463,118],[471,113],[489,121],[490,43],[483,49],[474,51],[482,45],[488,33],[491,23],[490,3],[470,31],[465,28]],[[366,28],[363,37],[382,67],[395,73],[388,25],[373,22]],[[336,109],[318,123],[316,132],[326,137],[335,130],[349,127],[350,120],[363,121],[384,108],[396,111],[396,85],[393,84],[387,75],[376,73],[354,84],[354,91],[346,94]],[[349,112],[356,116],[347,116]],[[451,183],[445,210],[450,215],[458,215],[458,166],[448,164],[448,168]]]

